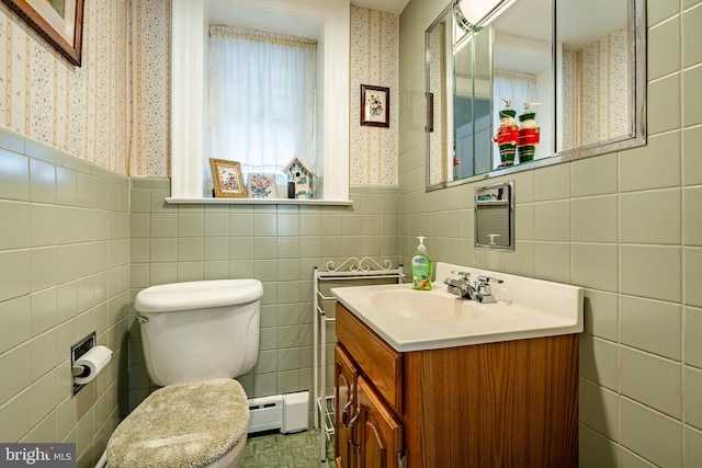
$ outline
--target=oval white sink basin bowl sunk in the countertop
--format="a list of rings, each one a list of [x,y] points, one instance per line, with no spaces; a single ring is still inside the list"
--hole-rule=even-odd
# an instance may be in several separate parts
[[[386,313],[430,322],[475,319],[479,304],[463,300],[445,292],[408,288],[383,289],[371,294],[371,304]]]

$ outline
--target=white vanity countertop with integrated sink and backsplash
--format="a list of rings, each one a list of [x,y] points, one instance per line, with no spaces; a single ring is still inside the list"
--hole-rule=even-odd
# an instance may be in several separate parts
[[[437,263],[433,289],[410,284],[336,287],[335,297],[397,351],[419,351],[580,333],[582,288],[559,283]],[[443,279],[453,271],[492,276],[495,304],[461,299]]]

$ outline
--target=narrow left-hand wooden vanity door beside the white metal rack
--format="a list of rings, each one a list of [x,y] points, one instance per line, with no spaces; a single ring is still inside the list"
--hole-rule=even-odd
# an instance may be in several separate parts
[[[349,421],[355,414],[355,380],[358,372],[344,350],[337,344],[333,350],[335,381],[335,457],[339,468],[354,467],[353,438]]]

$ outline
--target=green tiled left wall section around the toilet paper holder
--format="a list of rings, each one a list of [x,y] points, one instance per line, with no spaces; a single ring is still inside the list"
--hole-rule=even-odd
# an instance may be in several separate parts
[[[0,129],[0,441],[76,443],[93,466],[126,414],[128,179]],[[70,346],[110,365],[72,396]]]

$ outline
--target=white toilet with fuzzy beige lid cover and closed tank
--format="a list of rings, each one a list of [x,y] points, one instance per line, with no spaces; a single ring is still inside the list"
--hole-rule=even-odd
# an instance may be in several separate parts
[[[114,431],[107,467],[236,467],[249,421],[234,377],[259,353],[257,279],[151,286],[136,296],[146,368],[163,387]]]

